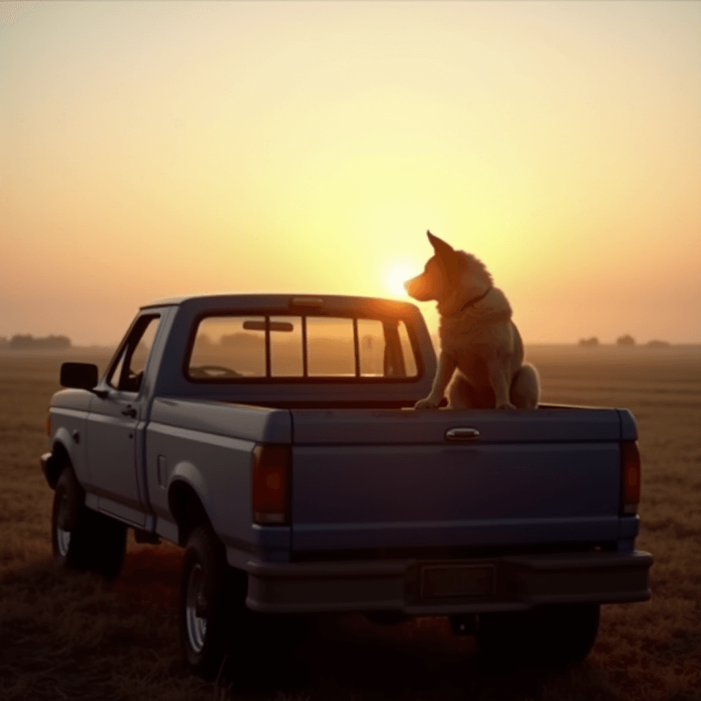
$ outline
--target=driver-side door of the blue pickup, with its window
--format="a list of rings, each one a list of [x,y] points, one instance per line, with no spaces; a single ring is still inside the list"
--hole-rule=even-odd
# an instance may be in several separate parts
[[[137,428],[146,408],[142,378],[159,319],[137,318],[107,371],[107,396],[95,397],[88,417],[88,463],[98,508],[137,526],[146,523],[137,471]]]

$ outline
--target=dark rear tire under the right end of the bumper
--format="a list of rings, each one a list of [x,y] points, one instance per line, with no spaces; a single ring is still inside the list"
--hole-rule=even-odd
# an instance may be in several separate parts
[[[562,667],[581,662],[597,638],[599,608],[599,604],[560,604],[480,615],[480,665],[494,673],[518,665]]]

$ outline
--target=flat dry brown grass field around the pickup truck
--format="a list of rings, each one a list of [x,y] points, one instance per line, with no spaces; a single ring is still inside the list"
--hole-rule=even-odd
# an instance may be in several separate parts
[[[70,355],[70,358],[68,355]],[[104,369],[104,353],[0,354],[0,698],[250,701],[701,698],[701,348],[529,348],[543,400],[627,407],[643,460],[637,547],[655,557],[653,598],[604,606],[578,666],[477,671],[474,639],[440,618],[376,627],[360,616],[312,625],[294,658],[261,658],[248,687],[236,660],[217,683],[182,669],[175,603],[181,550],[128,545],[114,583],[51,562],[50,491],[39,469],[62,360]]]

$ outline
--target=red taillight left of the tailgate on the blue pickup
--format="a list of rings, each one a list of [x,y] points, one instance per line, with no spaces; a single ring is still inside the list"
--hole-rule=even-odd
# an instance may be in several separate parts
[[[290,519],[290,447],[257,445],[253,449],[253,520],[285,524]]]

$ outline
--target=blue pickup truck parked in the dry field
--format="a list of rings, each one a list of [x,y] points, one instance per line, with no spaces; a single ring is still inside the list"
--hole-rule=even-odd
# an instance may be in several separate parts
[[[448,616],[484,660],[583,659],[601,604],[651,596],[626,409],[414,409],[413,304],[182,297],[140,309],[102,378],[50,402],[52,541],[116,577],[126,529],[185,548],[180,638],[217,673],[270,616]]]

